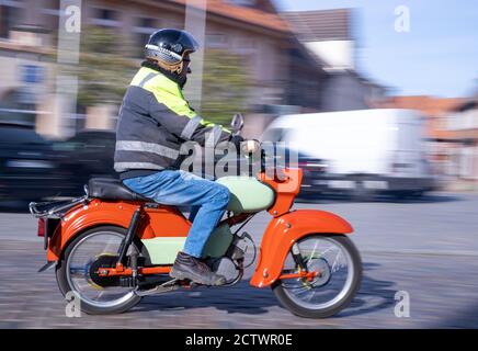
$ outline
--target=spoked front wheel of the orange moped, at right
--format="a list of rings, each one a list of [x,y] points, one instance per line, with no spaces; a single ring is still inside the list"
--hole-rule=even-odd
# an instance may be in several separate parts
[[[293,314],[326,318],[345,308],[362,281],[362,260],[353,242],[344,235],[316,234],[297,241],[297,248],[312,280],[278,280],[272,287],[281,304]],[[292,252],[283,273],[299,273]]]

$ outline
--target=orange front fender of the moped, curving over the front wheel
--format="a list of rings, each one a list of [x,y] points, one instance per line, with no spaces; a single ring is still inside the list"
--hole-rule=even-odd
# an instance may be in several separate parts
[[[287,253],[298,239],[316,233],[350,234],[352,226],[333,213],[297,210],[273,218],[265,229],[260,258],[250,284],[269,286],[281,275]]]

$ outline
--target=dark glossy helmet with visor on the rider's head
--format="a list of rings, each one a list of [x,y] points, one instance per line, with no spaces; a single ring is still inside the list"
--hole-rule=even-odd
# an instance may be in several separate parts
[[[186,31],[159,30],[149,37],[145,46],[145,57],[167,70],[181,73],[184,55],[198,48],[194,36]]]

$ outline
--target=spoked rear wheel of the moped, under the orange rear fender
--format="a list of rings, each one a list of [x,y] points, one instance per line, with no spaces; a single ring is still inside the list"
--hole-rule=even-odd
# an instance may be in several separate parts
[[[116,226],[101,226],[84,231],[66,248],[56,269],[58,286],[64,295],[73,292],[79,296],[81,310],[92,315],[118,314],[134,307],[141,301],[133,286],[124,287],[114,282],[98,285],[92,276],[92,267],[101,258],[117,254],[126,229]],[[127,256],[139,252],[138,242],[133,242]],[[114,261],[114,260],[113,260]],[[113,262],[112,261],[112,262]]]

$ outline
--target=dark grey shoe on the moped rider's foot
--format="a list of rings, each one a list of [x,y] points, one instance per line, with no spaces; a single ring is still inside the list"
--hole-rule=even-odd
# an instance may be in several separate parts
[[[169,275],[179,280],[189,279],[203,285],[223,285],[226,283],[223,275],[214,273],[206,263],[184,252],[178,253]]]

